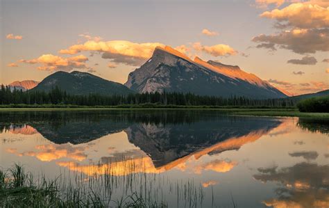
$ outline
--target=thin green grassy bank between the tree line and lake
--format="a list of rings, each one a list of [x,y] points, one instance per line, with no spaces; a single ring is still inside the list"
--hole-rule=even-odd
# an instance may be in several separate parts
[[[301,118],[328,118],[329,113],[305,113],[292,108],[266,108],[244,106],[28,106],[8,107],[0,106],[0,111],[113,111],[113,110],[212,110],[231,115],[260,115],[260,116],[287,116]]]

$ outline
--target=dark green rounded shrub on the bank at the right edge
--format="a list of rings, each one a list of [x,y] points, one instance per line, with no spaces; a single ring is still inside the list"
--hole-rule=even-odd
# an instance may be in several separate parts
[[[303,99],[297,107],[301,112],[329,113],[329,96]]]

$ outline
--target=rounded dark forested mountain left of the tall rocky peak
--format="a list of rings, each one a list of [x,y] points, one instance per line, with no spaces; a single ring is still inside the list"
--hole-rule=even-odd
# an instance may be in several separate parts
[[[71,95],[127,95],[134,93],[121,83],[108,81],[87,72],[55,72],[44,78],[33,90],[49,91],[58,86]]]

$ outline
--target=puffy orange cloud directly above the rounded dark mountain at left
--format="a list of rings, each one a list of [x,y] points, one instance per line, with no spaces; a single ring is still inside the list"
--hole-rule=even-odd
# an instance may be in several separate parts
[[[55,56],[53,54],[44,54],[38,58],[34,58],[31,60],[20,60],[20,62],[22,63],[40,64],[42,66],[37,67],[37,69],[47,71],[70,71],[74,68],[88,69],[87,65],[85,64],[86,61],[88,61],[88,58],[83,55],[63,58],[60,56]]]

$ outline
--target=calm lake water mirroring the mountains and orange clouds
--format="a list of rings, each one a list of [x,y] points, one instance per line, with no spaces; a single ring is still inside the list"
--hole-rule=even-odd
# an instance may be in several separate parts
[[[0,165],[169,207],[329,207],[329,121],[200,110],[0,113]],[[110,178],[110,193],[103,177]]]

